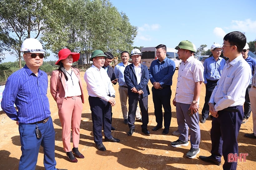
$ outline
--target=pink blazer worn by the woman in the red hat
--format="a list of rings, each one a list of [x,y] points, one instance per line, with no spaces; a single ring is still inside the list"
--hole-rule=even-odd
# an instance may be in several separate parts
[[[80,78],[80,71],[77,68],[73,68],[73,67],[71,68],[73,69],[74,73],[76,74],[79,80],[79,86],[82,93],[81,99],[82,99],[82,103],[84,103],[84,93],[83,93],[82,82]],[[52,76],[50,79],[50,91],[51,91],[52,97],[57,102],[58,109],[61,109],[62,107],[62,103],[65,97],[65,87],[66,87],[66,84],[65,84],[64,75],[62,75],[62,78],[61,78],[61,74],[59,70],[52,71]]]

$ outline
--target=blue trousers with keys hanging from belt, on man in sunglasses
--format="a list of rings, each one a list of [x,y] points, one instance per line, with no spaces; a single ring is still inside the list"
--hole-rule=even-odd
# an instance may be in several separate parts
[[[19,123],[19,133],[22,155],[20,157],[19,170],[36,169],[37,157],[40,146],[43,147],[45,169],[56,169],[55,161],[55,130],[51,116],[46,123],[38,123],[38,129],[42,137],[37,139],[36,124]]]

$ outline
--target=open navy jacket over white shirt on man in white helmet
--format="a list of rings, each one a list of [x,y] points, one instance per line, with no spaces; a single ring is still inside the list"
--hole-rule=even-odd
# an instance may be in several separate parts
[[[143,97],[146,97],[150,94],[148,88],[149,81],[149,72],[146,65],[141,64],[141,80],[140,83],[137,83],[137,78],[134,70],[134,65],[130,64],[126,66],[124,72],[125,83],[128,86],[128,95],[139,95],[138,93],[132,92],[130,89],[135,87],[138,91],[142,90],[144,92]]]

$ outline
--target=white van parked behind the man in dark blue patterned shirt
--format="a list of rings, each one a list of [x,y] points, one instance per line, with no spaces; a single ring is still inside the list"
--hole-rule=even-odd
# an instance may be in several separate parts
[[[143,47],[141,48],[141,64],[146,65],[148,68],[153,60],[157,59],[155,47]],[[175,66],[177,69],[180,68],[181,60],[177,54],[178,50],[174,48],[166,48],[166,56],[172,59],[175,62]]]

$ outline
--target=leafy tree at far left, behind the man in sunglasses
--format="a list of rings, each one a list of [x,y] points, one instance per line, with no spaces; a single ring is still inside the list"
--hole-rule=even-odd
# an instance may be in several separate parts
[[[15,54],[21,68],[22,41],[26,38],[40,39],[45,32],[57,30],[58,23],[61,23],[59,16],[62,13],[62,2],[65,1],[1,0],[0,52],[5,50]]]

